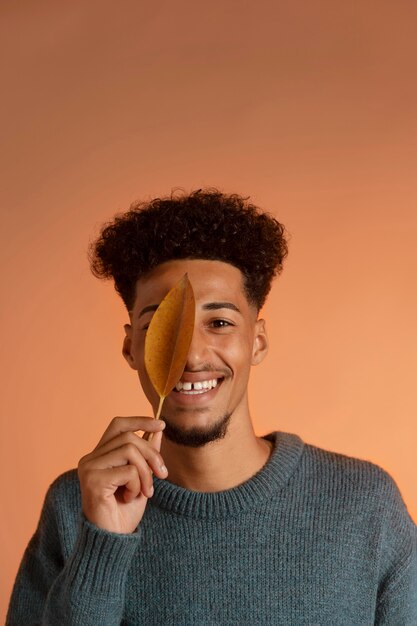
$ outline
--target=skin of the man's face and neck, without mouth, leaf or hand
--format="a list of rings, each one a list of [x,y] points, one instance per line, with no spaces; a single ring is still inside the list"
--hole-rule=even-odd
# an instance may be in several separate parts
[[[137,371],[156,414],[159,397],[144,365],[146,327],[153,312],[140,313],[158,305],[186,272],[194,290],[196,315],[182,378],[224,378],[209,394],[184,400],[172,391],[166,397],[160,453],[170,482],[194,491],[222,491],[249,480],[265,465],[272,449],[272,444],[256,436],[249,412],[250,370],[265,358],[268,339],[265,320],[257,318],[256,307],[247,300],[240,270],[200,259],[168,261],[156,267],[137,282],[122,352]],[[213,302],[231,303],[239,312],[204,308]]]

